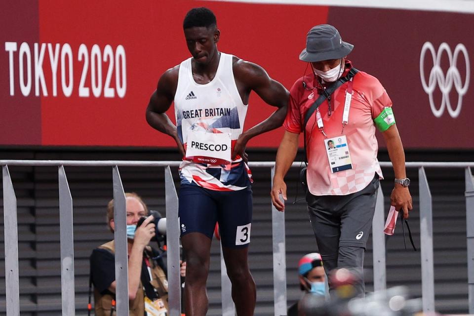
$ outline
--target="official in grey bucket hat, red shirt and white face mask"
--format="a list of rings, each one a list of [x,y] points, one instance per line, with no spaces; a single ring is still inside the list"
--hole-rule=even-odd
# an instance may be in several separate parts
[[[379,79],[357,70],[346,57],[354,46],[344,42],[331,25],[317,25],[307,34],[306,49],[300,55],[305,72],[290,89],[283,122],[285,133],[276,154],[272,203],[278,211],[284,211],[284,178],[297,156],[303,132],[307,168],[302,180],[306,184],[310,223],[324,260],[322,268],[326,273],[340,268],[356,269],[360,278],[354,282],[354,291],[356,296],[363,297],[365,249],[379,180],[383,178],[377,160],[376,130],[384,137],[397,179],[392,204],[403,210],[406,218],[413,205],[408,184],[400,184],[408,182],[403,145],[387,90]],[[310,67],[312,71],[307,74]],[[340,154],[327,159],[333,155],[327,146],[330,139],[345,143],[339,147]],[[350,164],[344,160],[348,157]],[[343,163],[347,163],[345,167],[338,166]],[[302,272],[312,265],[303,265]],[[328,283],[330,290],[336,289],[337,284],[331,279]],[[322,289],[320,283],[311,285]]]

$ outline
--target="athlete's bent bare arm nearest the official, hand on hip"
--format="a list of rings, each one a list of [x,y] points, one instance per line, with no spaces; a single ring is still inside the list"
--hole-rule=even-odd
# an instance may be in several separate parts
[[[262,133],[280,127],[286,116],[288,104],[288,90],[278,81],[270,78],[267,72],[260,66],[238,60],[234,65],[234,76],[243,86],[246,87],[247,95],[251,90],[255,91],[267,104],[277,107],[270,117],[244,131],[237,139],[232,158],[237,155],[243,157],[247,142]]]

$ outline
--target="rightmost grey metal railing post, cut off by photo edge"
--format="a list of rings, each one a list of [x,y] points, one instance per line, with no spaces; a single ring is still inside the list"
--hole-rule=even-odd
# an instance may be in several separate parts
[[[466,168],[466,238],[468,244],[468,295],[469,314],[474,314],[474,178]]]

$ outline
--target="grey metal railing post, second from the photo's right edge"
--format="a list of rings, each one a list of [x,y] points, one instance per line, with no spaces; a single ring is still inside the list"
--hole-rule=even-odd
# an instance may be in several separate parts
[[[435,312],[435,274],[433,266],[433,205],[425,168],[418,169],[420,187],[421,292],[423,313]]]

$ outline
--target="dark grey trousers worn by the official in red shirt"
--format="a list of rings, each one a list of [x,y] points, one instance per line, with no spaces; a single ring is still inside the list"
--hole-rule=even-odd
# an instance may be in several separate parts
[[[361,191],[347,196],[314,196],[307,193],[308,211],[326,274],[350,268],[356,276],[357,296],[365,295],[365,246],[375,212],[379,176]],[[330,281],[330,280],[329,280]],[[332,292],[333,284],[329,282]]]

